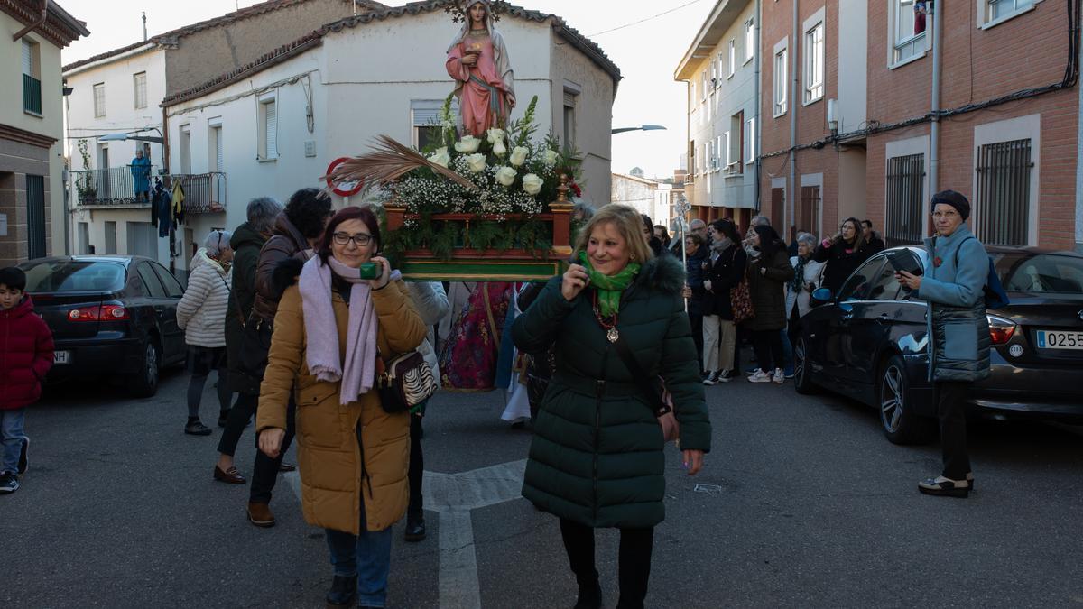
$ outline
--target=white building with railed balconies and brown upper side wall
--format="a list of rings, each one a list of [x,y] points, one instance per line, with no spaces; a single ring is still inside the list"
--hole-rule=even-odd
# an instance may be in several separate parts
[[[139,254],[162,263],[184,256],[179,243],[159,236],[149,204],[135,196],[130,164],[136,150],[151,159],[154,176],[184,184],[187,217],[224,225],[225,160],[219,154],[196,172],[183,163],[170,166],[162,100],[259,63],[327,23],[378,9],[383,4],[367,0],[269,0],[65,65],[73,89],[65,153],[76,199],[74,250]]]

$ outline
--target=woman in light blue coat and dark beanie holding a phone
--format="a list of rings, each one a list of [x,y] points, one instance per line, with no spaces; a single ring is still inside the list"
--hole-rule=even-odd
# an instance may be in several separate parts
[[[932,196],[937,236],[925,239],[932,260],[925,276],[897,273],[928,302],[929,380],[937,396],[943,472],[919,482],[929,495],[965,497],[974,488],[966,451],[966,403],[974,383],[989,376],[986,248],[966,226],[970,203],[955,191]]]

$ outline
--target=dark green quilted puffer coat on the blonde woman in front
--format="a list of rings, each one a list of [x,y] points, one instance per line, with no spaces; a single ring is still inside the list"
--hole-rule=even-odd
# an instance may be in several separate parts
[[[557,373],[540,405],[523,495],[589,527],[653,527],[665,518],[665,455],[652,405],[592,310],[569,302],[553,277],[512,324],[527,353],[554,346]],[[617,329],[640,367],[661,375],[681,424],[681,449],[710,449],[710,423],[680,289],[681,262],[648,261],[621,297]],[[599,379],[604,384],[599,386]]]

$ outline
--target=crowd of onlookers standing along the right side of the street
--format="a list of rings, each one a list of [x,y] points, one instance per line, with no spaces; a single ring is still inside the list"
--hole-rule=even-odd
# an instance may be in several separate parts
[[[688,315],[708,386],[742,376],[745,344],[755,358],[743,371],[749,381],[792,378],[793,346],[812,293],[825,287],[837,294],[854,269],[884,249],[872,222],[857,218],[828,238],[800,231],[790,244],[765,216],[753,217],[743,232],[730,218],[692,220],[683,244],[665,226],[651,228],[660,249],[686,262]]]

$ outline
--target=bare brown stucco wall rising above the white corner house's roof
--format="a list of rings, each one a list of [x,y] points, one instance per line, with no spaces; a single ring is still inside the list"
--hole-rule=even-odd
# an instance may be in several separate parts
[[[237,69],[323,25],[352,15],[348,0],[311,0],[184,36],[180,46],[167,54],[169,93]]]

